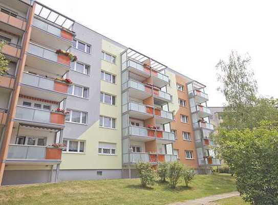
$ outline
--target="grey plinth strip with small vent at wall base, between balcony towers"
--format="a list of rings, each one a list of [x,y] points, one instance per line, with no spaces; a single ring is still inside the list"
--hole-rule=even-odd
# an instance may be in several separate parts
[[[97,175],[97,172],[102,172],[102,175]],[[59,181],[120,178],[122,178],[122,170],[60,170],[59,172]]]

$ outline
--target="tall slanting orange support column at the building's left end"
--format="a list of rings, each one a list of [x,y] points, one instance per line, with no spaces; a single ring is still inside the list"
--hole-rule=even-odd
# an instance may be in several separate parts
[[[23,71],[24,71],[26,57],[27,57],[26,53],[28,50],[28,45],[31,36],[31,30],[32,30],[31,25],[33,22],[35,5],[36,3],[34,3],[33,6],[30,6],[28,11],[28,19],[27,19],[26,32],[24,33],[23,47],[20,53],[19,66],[17,69],[15,84],[12,92],[10,111],[8,114],[6,130],[5,130],[4,138],[0,149],[0,186],[2,184],[3,175],[4,175],[5,160],[8,155],[9,142],[11,139],[12,128],[13,128],[13,118],[15,116],[16,105],[17,105],[19,91],[20,91],[20,82],[22,81]]]

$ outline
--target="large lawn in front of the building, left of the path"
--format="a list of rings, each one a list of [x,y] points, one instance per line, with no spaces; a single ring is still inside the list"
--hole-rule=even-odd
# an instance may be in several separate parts
[[[235,180],[227,174],[196,175],[189,188],[182,182],[175,190],[162,183],[142,188],[139,179],[64,181],[0,187],[0,204],[160,205],[235,190]]]

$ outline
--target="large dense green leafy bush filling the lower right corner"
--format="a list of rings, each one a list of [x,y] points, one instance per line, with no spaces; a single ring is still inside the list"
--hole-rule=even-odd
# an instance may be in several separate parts
[[[219,129],[216,151],[232,168],[237,188],[252,205],[278,204],[278,130],[264,121],[245,130]]]

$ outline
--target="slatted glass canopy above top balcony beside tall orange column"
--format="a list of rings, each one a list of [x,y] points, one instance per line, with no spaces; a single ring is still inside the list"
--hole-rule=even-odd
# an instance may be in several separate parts
[[[73,19],[68,18],[65,15],[62,15],[62,14],[58,13],[57,11],[54,11],[51,8],[49,8],[45,5],[42,5],[38,2],[36,2],[35,14],[43,19],[48,20],[49,22],[52,22],[53,24],[56,24],[62,28],[66,28],[68,30],[71,30],[72,26],[74,24]]]

